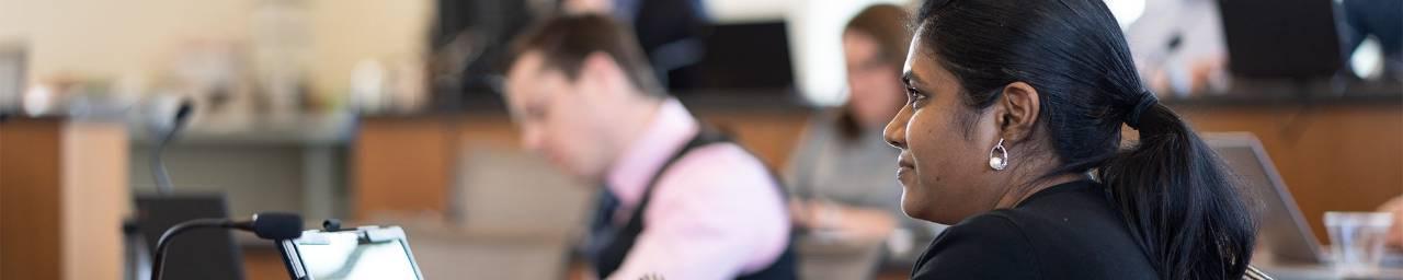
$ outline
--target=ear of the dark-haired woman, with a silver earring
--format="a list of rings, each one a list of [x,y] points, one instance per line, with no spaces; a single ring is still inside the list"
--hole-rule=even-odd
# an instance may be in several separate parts
[[[999,125],[999,136],[1005,141],[1019,143],[1033,136],[1042,109],[1037,88],[1023,81],[1005,85],[995,106],[998,106],[995,123]]]

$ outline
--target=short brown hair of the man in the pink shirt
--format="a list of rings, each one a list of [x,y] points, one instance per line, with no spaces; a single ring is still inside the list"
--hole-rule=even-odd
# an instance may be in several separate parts
[[[574,81],[579,78],[585,59],[603,52],[619,64],[629,83],[648,95],[664,95],[654,77],[647,56],[631,32],[623,25],[598,14],[561,15],[549,18],[516,38],[512,43],[515,59],[528,52],[540,52],[543,69],[558,70]],[[515,63],[513,59],[513,63]]]

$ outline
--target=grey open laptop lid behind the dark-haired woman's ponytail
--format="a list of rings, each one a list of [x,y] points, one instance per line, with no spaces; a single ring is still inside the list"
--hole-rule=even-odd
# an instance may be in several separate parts
[[[1257,256],[1277,263],[1324,263],[1320,244],[1291,197],[1277,167],[1251,133],[1205,133],[1218,157],[1242,183],[1242,195],[1257,216]]]

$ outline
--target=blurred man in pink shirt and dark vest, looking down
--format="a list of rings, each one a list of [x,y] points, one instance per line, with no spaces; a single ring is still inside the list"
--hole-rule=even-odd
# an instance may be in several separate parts
[[[588,245],[602,279],[794,279],[783,189],[703,129],[602,15],[518,38],[506,101],[523,146],[605,185]]]

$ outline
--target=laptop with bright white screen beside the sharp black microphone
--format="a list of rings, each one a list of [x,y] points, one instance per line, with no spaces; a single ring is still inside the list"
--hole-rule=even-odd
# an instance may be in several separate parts
[[[424,279],[400,227],[309,230],[279,241],[278,252],[295,280]]]

